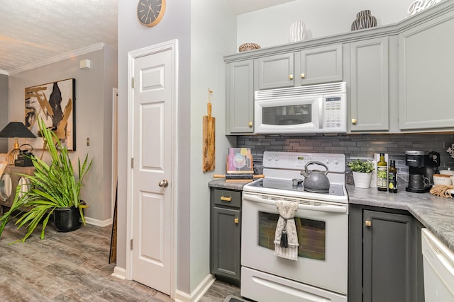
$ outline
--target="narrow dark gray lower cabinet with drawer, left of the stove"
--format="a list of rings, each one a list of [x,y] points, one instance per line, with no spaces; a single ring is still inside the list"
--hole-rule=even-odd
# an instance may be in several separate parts
[[[210,272],[240,283],[241,192],[211,188]]]

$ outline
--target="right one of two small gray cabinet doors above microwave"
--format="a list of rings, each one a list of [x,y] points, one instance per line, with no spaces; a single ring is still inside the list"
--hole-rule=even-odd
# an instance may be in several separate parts
[[[328,45],[301,50],[301,85],[342,81],[342,45]]]

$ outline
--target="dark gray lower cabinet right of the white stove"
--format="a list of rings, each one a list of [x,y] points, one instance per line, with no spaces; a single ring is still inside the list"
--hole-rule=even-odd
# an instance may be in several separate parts
[[[350,204],[349,301],[424,301],[420,235],[406,211]]]

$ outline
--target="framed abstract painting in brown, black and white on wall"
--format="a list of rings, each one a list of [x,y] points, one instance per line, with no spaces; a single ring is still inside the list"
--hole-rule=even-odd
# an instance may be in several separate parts
[[[26,127],[38,136],[38,120],[43,119],[68,150],[76,150],[75,79],[26,88]],[[42,140],[31,144],[43,148]]]

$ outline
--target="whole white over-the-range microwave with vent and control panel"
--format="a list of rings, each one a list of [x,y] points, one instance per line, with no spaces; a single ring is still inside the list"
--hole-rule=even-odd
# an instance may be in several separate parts
[[[255,91],[256,134],[347,132],[345,82]]]

